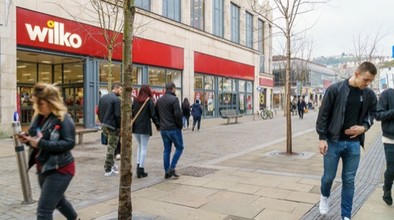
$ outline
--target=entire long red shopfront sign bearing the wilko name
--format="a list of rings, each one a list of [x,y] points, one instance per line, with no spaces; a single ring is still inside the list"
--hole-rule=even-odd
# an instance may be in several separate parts
[[[17,8],[17,44],[99,58],[107,57],[103,29],[76,21]],[[34,19],[32,19],[34,18]],[[107,31],[109,35],[115,32]],[[122,60],[123,34],[118,34],[113,59]],[[133,62],[183,69],[183,48],[135,37]]]

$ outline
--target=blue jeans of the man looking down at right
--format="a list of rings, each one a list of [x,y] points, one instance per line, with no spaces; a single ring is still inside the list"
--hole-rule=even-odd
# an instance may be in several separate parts
[[[327,141],[328,151],[324,155],[324,173],[321,178],[321,194],[330,196],[332,183],[337,173],[339,159],[342,159],[341,215],[351,217],[354,179],[360,162],[359,141]]]

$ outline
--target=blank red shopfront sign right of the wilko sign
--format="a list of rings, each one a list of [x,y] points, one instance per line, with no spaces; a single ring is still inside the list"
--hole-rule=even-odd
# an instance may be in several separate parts
[[[217,76],[254,80],[254,66],[194,52],[194,71]]]

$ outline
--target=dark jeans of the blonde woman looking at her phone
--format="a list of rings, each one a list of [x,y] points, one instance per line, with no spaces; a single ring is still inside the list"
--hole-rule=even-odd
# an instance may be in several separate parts
[[[51,220],[55,209],[68,220],[77,218],[77,213],[71,203],[64,197],[72,175],[52,172],[38,174],[38,183],[41,187],[41,195],[37,207],[37,220]]]

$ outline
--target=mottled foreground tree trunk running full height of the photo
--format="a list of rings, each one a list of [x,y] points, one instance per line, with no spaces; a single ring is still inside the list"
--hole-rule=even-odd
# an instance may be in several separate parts
[[[132,219],[133,206],[131,203],[132,183],[132,125],[131,125],[131,75],[132,75],[132,45],[134,24],[134,0],[124,1],[124,31],[123,31],[123,67],[122,76],[122,124],[121,124],[121,162],[119,181],[118,219]]]

